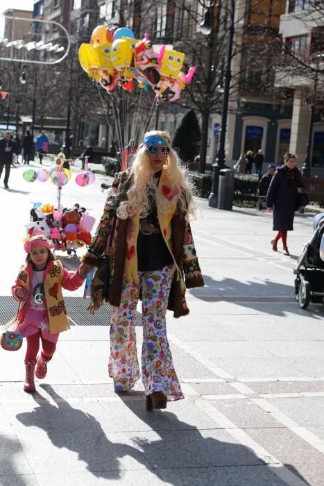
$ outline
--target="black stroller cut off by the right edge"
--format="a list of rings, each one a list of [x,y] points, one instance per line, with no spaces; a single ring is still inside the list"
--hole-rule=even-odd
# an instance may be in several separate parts
[[[324,304],[324,212],[318,212],[313,219],[314,233],[305,244],[302,254],[293,270],[295,298],[300,308],[306,309],[309,302]]]

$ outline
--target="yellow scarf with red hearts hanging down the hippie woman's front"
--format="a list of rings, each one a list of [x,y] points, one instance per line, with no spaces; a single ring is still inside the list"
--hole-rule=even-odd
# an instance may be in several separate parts
[[[155,201],[157,207],[157,219],[160,224],[160,229],[164,241],[173,257],[174,267],[178,271],[178,276],[181,276],[180,269],[176,264],[173,256],[172,240],[171,240],[171,219],[176,211],[178,202],[179,190],[175,185],[167,181],[167,174],[162,170],[160,183],[155,189]],[[127,246],[126,246],[126,280],[131,282],[132,278],[138,284],[137,274],[137,237],[139,233],[139,216],[135,215],[130,219],[127,230]]]

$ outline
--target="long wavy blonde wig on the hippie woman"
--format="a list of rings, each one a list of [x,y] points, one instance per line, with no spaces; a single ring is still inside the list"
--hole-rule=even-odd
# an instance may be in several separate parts
[[[169,135],[162,131],[147,132],[145,137],[152,135],[170,140]],[[190,216],[194,216],[191,187],[186,180],[185,169],[181,166],[178,155],[171,147],[171,142],[168,146],[171,151],[163,167],[166,183],[178,188],[178,205],[182,214],[185,215],[185,219],[189,220]],[[127,219],[133,215],[139,215],[140,218],[143,218],[148,215],[150,210],[148,194],[155,190],[153,175],[146,146],[140,145],[130,167],[130,177],[133,178],[133,183],[127,192],[128,201],[123,201],[117,210],[117,216],[120,219]]]

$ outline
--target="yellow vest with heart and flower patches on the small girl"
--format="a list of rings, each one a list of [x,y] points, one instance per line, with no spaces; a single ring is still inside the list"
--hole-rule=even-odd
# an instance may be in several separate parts
[[[51,334],[61,333],[70,328],[69,319],[67,319],[67,310],[62,295],[61,280],[63,276],[62,263],[59,260],[53,262],[44,280],[44,292],[47,315],[49,318],[49,332]],[[19,285],[29,290],[29,274],[26,265],[19,271]],[[27,301],[24,301],[22,309],[19,311],[18,321],[22,321]]]

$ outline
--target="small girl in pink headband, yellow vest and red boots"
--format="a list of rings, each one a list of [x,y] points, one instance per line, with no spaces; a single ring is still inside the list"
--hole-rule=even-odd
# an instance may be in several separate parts
[[[62,263],[55,260],[52,248],[52,243],[42,235],[27,240],[24,244],[26,265],[21,267],[12,287],[13,298],[22,303],[15,330],[27,340],[24,384],[27,393],[35,392],[34,372],[37,378],[45,378],[46,364],[55,353],[58,336],[63,330],[69,329],[62,287],[78,289],[89,271],[87,265],[82,264],[74,275],[69,275]],[[37,357],[40,340],[42,352]]]

